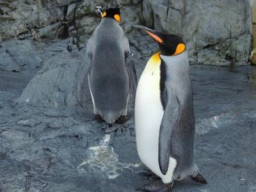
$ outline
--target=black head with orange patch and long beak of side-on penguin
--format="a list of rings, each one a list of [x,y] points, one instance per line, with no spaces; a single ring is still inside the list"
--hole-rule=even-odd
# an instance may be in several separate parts
[[[135,25],[134,27],[143,29],[148,35],[152,36],[152,38],[159,44],[160,54],[164,56],[174,56],[186,50],[184,41],[177,35],[154,31],[139,25]]]

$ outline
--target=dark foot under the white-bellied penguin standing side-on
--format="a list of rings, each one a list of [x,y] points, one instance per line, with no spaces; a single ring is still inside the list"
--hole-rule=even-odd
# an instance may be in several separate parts
[[[154,182],[153,184],[144,185],[142,188],[136,189],[137,191],[150,191],[150,192],[169,192],[171,191],[173,182],[164,184],[162,181]]]

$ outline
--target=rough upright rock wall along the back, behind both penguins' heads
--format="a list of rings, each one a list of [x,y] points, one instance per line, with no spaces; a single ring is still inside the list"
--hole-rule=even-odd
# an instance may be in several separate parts
[[[99,24],[100,17],[95,13],[99,5],[104,9],[121,6],[121,25],[131,44],[140,44],[144,49],[152,41],[141,44],[141,35],[133,24],[181,35],[188,44],[189,60],[195,63],[241,65],[248,60],[249,0],[0,0],[0,42],[13,37],[39,41],[72,36],[73,44],[84,47]]]

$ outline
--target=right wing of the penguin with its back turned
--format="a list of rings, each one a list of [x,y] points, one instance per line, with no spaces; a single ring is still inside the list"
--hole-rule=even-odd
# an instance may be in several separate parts
[[[134,104],[137,87],[137,76],[131,52],[125,52],[125,65],[129,75],[132,102]]]

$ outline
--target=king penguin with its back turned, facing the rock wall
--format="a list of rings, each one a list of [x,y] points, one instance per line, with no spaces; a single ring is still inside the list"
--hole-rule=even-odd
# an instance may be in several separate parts
[[[119,8],[102,13],[77,73],[79,104],[84,106],[88,81],[95,118],[105,120],[109,126],[125,121],[129,93],[135,98],[137,81],[129,42],[119,24]]]

